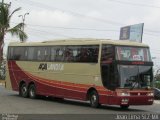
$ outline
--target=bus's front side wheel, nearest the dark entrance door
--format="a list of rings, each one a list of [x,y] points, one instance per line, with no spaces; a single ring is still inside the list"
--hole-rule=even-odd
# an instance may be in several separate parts
[[[90,101],[90,106],[93,108],[99,107],[99,95],[97,91],[93,90],[89,94],[89,101]]]

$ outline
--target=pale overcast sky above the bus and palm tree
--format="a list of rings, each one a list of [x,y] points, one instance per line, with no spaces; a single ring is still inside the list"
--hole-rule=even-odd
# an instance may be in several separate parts
[[[11,2],[11,26],[22,22],[28,42],[61,38],[119,39],[120,28],[144,23],[143,43],[150,46],[154,67],[160,68],[160,0],[4,0]],[[5,43],[18,38],[5,36]]]

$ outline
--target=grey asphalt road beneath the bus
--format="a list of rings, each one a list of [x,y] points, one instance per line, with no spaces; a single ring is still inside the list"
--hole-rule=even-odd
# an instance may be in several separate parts
[[[18,96],[17,92],[7,91],[0,85],[0,113],[7,114],[50,114],[62,118],[68,115],[103,116],[109,114],[160,114],[160,103],[154,103],[151,106],[130,106],[128,110],[122,110],[119,106],[102,106],[98,109],[91,108],[88,103],[65,99],[57,101],[54,99],[29,99]],[[96,116],[95,116],[96,115]],[[63,117],[65,116],[65,117]],[[75,116],[75,117],[76,117]],[[111,116],[113,117],[113,116]],[[1,117],[0,117],[1,118]],[[104,117],[105,118],[105,117]],[[160,116],[159,118],[160,119]],[[101,119],[102,120],[102,119]]]

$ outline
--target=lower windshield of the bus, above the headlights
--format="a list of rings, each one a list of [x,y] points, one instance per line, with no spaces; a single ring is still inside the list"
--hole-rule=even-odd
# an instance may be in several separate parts
[[[152,67],[118,65],[120,88],[147,88],[152,83]]]

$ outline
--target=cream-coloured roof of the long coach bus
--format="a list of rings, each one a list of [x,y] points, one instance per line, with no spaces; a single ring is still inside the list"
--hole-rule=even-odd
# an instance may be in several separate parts
[[[50,40],[44,42],[25,42],[25,43],[11,42],[9,46],[99,45],[99,44],[148,47],[148,45],[144,43],[139,43],[129,40],[89,39],[89,38],[61,39],[61,40]]]

